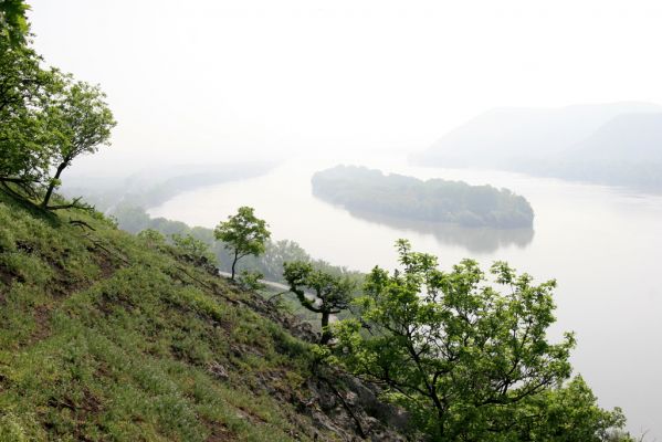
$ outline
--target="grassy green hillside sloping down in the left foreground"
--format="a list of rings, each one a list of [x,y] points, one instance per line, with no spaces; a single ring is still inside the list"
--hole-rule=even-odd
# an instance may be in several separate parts
[[[0,441],[334,440],[297,412],[307,344],[252,299],[104,220],[0,196]]]

